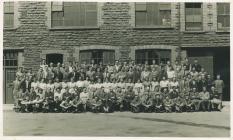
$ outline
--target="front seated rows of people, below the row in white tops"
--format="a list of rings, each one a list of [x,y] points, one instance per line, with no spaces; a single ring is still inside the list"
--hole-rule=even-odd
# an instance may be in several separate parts
[[[132,111],[138,112],[197,112],[197,111],[221,111],[222,101],[215,88],[211,92],[203,87],[201,92],[193,88],[189,92],[179,93],[178,89],[167,88],[161,92],[149,92],[146,88],[142,94],[136,94],[132,87],[126,89],[116,88],[105,92],[104,88],[88,89],[76,88],[70,93],[66,89],[62,94],[57,88],[53,93],[50,88],[43,92],[38,89],[23,95],[18,100],[16,112],[114,112]]]

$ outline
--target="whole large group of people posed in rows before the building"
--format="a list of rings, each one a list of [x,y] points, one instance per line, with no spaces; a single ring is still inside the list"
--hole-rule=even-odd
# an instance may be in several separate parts
[[[16,112],[221,111],[224,82],[188,58],[171,64],[104,65],[91,60],[19,67],[13,82]]]

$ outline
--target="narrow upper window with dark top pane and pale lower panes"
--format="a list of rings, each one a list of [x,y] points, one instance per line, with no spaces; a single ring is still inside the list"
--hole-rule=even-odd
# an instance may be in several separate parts
[[[186,3],[185,4],[185,29],[202,30],[202,4]]]

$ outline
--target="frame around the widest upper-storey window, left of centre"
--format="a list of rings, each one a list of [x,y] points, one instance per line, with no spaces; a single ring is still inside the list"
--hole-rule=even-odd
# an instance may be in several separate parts
[[[75,29],[78,29],[78,30],[83,30],[83,29],[89,29],[89,30],[96,30],[96,29],[99,29],[99,3],[98,2],[92,2],[92,3],[96,3],[96,25],[94,26],[87,26],[87,25],[84,25],[84,26],[67,26],[67,25],[64,25],[64,3],[66,1],[63,1],[62,2],[62,12],[63,12],[63,19],[62,19],[62,22],[63,22],[63,25],[62,26],[53,26],[53,17],[52,17],[52,14],[53,12],[59,12],[59,11],[52,11],[52,8],[53,8],[53,2],[50,2],[50,10],[49,10],[49,16],[50,16],[50,23],[49,23],[49,27],[50,27],[50,30],[75,30]],[[79,3],[90,3],[90,2],[79,2]],[[86,11],[84,12],[86,14]],[[84,18],[86,20],[86,17]]]

